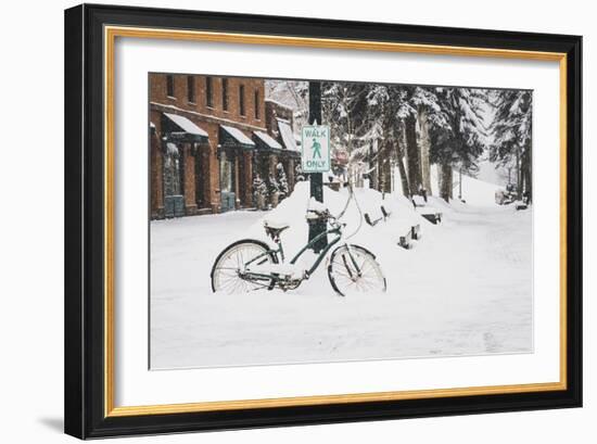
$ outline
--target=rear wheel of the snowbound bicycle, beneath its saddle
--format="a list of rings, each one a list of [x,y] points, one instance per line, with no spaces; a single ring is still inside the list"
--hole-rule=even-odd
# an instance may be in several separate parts
[[[224,249],[212,267],[212,291],[232,294],[271,289],[271,279],[249,279],[244,275],[246,264],[252,261],[259,265],[278,263],[276,254],[270,252],[267,244],[254,239],[243,239]]]

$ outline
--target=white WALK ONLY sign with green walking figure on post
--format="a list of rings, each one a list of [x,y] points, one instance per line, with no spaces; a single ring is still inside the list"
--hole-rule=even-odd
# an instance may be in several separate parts
[[[303,172],[326,173],[331,169],[330,127],[327,125],[304,126],[302,131],[301,160]]]

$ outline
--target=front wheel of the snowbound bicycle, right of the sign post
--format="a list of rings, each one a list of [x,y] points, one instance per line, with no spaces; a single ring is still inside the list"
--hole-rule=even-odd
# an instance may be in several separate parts
[[[330,256],[328,277],[341,296],[385,292],[385,277],[376,256],[358,245],[341,245]]]

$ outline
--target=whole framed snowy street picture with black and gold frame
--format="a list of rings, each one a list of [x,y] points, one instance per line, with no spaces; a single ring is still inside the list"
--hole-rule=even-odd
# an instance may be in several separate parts
[[[580,407],[581,58],[66,10],[66,433]]]

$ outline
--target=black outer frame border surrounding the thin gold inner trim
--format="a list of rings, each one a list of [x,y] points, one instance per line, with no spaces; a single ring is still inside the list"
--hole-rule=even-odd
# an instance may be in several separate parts
[[[80,439],[582,406],[582,37],[82,4],[65,11],[65,421]],[[139,26],[567,54],[567,389],[104,417],[103,27]]]

